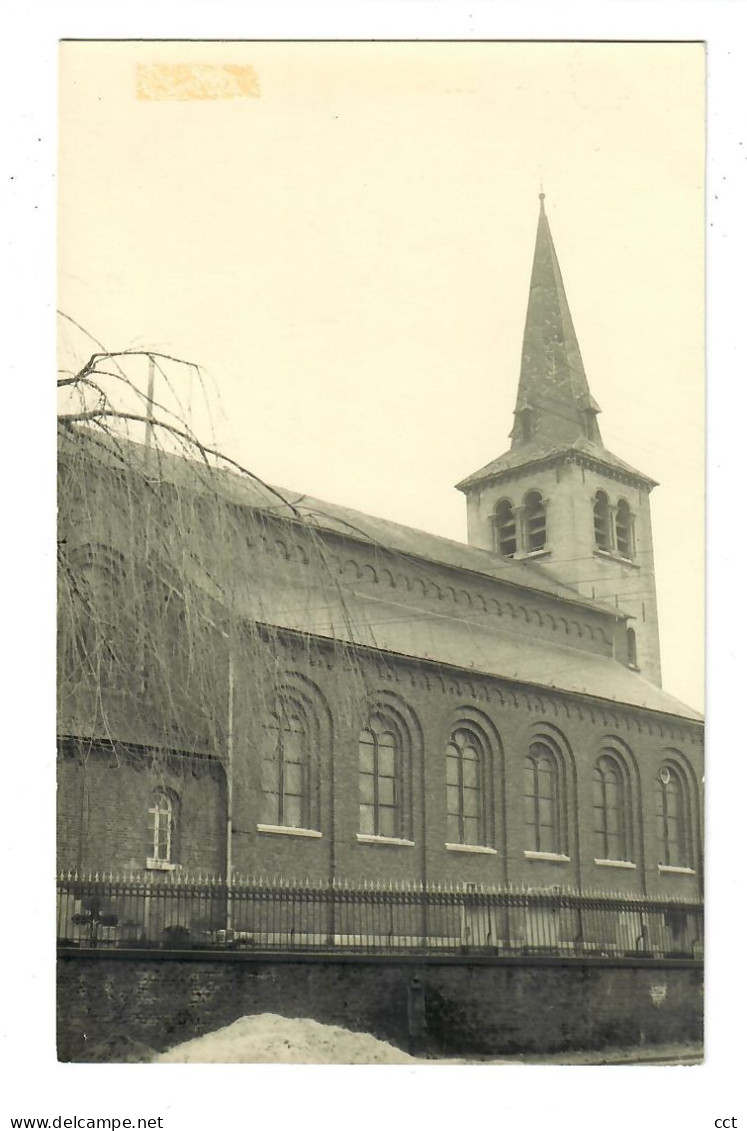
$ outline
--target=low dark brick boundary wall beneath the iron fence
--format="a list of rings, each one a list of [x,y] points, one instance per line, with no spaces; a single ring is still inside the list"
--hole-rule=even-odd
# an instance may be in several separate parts
[[[406,1047],[407,987],[424,990],[427,1047],[493,1054],[599,1048],[702,1036],[695,964],[267,961],[61,956],[58,1056],[110,1037],[156,1051],[244,1015],[311,1017]]]

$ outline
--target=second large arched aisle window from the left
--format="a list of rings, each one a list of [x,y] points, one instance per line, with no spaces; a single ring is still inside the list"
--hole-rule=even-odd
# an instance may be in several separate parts
[[[359,831],[401,837],[404,831],[402,743],[396,727],[371,715],[358,736]]]

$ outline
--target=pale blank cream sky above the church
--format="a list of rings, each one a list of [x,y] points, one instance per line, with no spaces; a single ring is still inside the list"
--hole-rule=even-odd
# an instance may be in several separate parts
[[[241,96],[174,97],[163,63],[233,64]],[[664,687],[702,708],[703,68],[694,44],[66,44],[59,304],[199,362],[195,426],[265,480],[464,541],[542,184],[603,439],[661,483]],[[89,348],[63,327],[62,364]]]

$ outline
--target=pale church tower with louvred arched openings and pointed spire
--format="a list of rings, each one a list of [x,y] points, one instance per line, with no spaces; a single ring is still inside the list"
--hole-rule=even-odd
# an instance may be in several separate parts
[[[649,499],[656,484],[607,450],[599,412],[541,192],[510,448],[457,484],[467,541],[536,562],[627,614],[617,658],[661,685]]]

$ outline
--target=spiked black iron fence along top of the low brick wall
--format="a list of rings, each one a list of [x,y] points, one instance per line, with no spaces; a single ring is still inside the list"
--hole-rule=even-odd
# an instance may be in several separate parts
[[[79,875],[58,882],[58,941],[274,952],[701,958],[703,908],[607,892]]]

